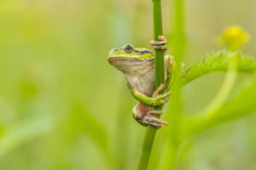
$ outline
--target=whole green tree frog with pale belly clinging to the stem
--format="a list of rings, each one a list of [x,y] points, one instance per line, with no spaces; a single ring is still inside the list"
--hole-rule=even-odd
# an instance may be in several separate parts
[[[132,116],[143,126],[163,127],[168,123],[157,116],[163,111],[154,107],[166,104],[170,92],[160,94],[172,79],[174,58],[166,54],[166,38],[158,37],[158,41],[150,41],[152,48],[165,51],[165,84],[155,90],[154,52],[148,48],[134,48],[125,44],[122,48],[113,48],[108,54],[108,62],[117,70],[122,71],[127,80],[132,96],[138,100],[132,109]]]

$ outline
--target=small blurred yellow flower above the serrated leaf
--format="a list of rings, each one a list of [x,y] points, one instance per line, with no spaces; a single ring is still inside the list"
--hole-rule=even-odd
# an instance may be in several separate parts
[[[224,33],[220,38],[228,49],[236,51],[250,40],[250,35],[243,31],[240,26],[230,26],[224,29]]]

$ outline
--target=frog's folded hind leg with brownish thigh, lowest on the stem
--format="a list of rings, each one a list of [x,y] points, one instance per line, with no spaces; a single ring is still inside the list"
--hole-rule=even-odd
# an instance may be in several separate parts
[[[137,122],[139,122],[143,126],[151,125],[160,128],[164,125],[167,125],[167,122],[164,122],[159,118],[155,117],[156,115],[161,115],[163,112],[153,111],[152,109],[152,106],[138,103],[134,106],[132,110],[132,116],[135,118]]]

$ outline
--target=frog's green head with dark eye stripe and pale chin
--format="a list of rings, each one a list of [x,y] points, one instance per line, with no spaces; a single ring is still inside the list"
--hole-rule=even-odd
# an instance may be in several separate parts
[[[108,62],[119,71],[127,72],[138,69],[146,63],[151,63],[154,54],[147,48],[133,48],[131,44],[125,44],[122,48],[113,48],[108,54]]]

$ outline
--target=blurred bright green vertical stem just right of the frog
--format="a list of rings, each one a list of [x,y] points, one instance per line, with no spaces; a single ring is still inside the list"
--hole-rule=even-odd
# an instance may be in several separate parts
[[[170,123],[170,131],[167,133],[168,147],[165,153],[165,161],[163,169],[174,170],[177,163],[177,152],[182,143],[180,132],[183,115],[182,115],[182,101],[181,88],[178,88],[181,74],[181,60],[183,59],[185,34],[184,34],[184,9],[183,0],[174,0],[174,30],[173,30],[173,46],[172,54],[175,56],[177,69],[174,71],[174,82],[172,85],[172,103],[167,114],[167,120]]]

